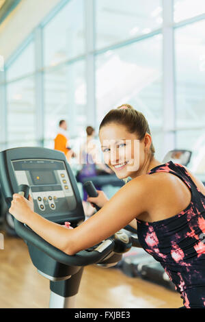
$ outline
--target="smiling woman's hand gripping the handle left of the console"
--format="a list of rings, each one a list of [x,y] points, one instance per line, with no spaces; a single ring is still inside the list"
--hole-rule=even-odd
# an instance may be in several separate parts
[[[33,199],[29,196],[29,200],[27,200],[25,199],[25,197],[20,196],[16,193],[15,195],[13,195],[13,200],[9,212],[18,221],[20,221],[20,223],[27,223],[29,221],[31,212],[33,212]]]

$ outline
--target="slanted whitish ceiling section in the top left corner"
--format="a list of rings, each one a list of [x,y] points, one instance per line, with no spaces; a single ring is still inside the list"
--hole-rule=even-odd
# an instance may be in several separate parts
[[[61,0],[22,0],[0,25],[0,55],[10,55]]]

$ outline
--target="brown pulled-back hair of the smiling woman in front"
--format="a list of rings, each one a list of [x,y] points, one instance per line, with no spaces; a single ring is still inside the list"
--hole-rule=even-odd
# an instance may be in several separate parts
[[[111,110],[102,120],[100,129],[110,123],[124,125],[129,133],[136,133],[139,140],[142,140],[146,133],[151,135],[150,127],[145,116],[128,104],[123,104],[119,108]],[[154,156],[155,149],[153,143],[150,146],[150,152]]]

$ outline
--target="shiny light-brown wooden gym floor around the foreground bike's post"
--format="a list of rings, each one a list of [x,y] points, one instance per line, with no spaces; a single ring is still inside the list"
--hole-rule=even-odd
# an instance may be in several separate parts
[[[5,236],[0,250],[0,308],[47,308],[49,281],[33,267],[23,240]],[[86,267],[77,308],[179,308],[180,295],[119,269]]]

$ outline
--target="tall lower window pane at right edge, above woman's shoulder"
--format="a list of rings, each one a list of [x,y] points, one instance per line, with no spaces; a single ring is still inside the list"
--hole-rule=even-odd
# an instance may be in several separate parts
[[[191,166],[195,173],[202,171],[202,160],[205,162],[204,28],[205,20],[178,28],[175,32],[177,146],[193,151]]]

